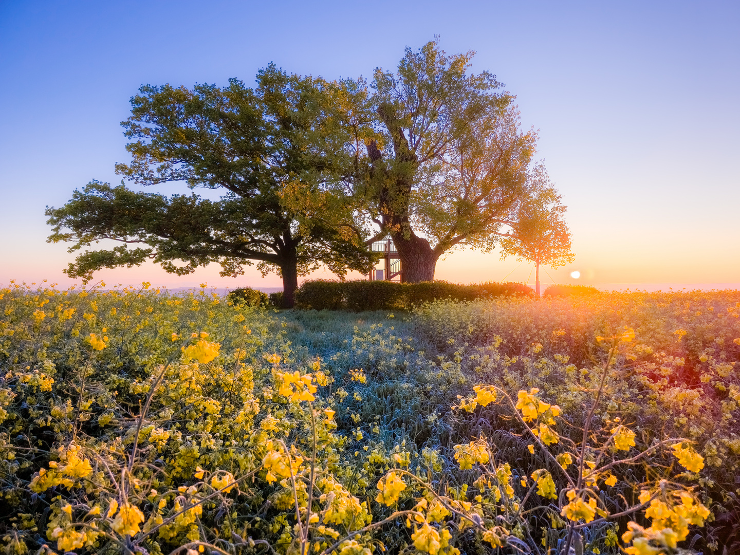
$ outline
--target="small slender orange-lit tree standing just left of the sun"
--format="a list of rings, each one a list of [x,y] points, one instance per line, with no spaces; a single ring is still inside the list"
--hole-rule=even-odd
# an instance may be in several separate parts
[[[563,206],[560,198],[553,187],[540,187],[522,204],[517,222],[511,224],[511,234],[501,241],[502,259],[516,256],[517,260],[534,262],[537,297],[539,265],[558,268],[575,258],[571,252],[571,232],[563,219],[568,206]]]

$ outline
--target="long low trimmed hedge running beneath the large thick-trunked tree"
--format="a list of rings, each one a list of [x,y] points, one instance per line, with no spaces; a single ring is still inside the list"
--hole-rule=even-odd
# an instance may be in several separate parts
[[[295,292],[295,308],[303,310],[411,310],[435,299],[474,300],[499,295],[534,295],[523,283],[474,283],[447,281],[396,283],[393,281],[310,280]]]

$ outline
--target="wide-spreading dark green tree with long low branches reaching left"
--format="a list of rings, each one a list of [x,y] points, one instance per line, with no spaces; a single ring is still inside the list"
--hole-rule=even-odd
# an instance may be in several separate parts
[[[366,230],[346,191],[345,176],[354,171],[351,114],[335,109],[346,104],[346,84],[270,65],[258,85],[232,79],[223,89],[141,87],[122,123],[134,139],[127,145],[132,161],[116,172],[138,185],[217,189],[221,198],[93,181],[61,208],[47,209],[50,241],[73,241],[70,252],[105,239],[123,244],[83,252],[65,272],[89,278],[151,259],[178,275],[216,262],[221,275],[236,276],[257,263],[263,275],[283,278],[289,307],[297,277],[320,263],[340,276],[369,269]]]

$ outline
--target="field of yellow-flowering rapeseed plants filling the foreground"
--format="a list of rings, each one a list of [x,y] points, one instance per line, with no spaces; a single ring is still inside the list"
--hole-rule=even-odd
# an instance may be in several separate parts
[[[300,316],[311,313],[277,316],[205,287],[13,284],[0,291],[4,549],[616,554],[622,539],[657,554],[694,533],[717,547],[701,527],[730,506],[713,469],[716,457],[736,464],[722,435],[736,416],[736,343],[699,356],[710,375],[699,383],[722,398],[700,391],[671,428],[680,409],[662,419],[659,397],[686,359],[647,362],[646,349],[686,301],[630,298],[622,310],[650,313],[633,326],[596,300],[593,314],[607,314],[586,310],[582,323],[573,311],[588,307],[572,299],[514,298],[432,303],[401,322],[337,315],[352,329],[327,338]],[[568,302],[574,329],[562,332],[551,326]],[[682,345],[699,329],[740,337],[736,313],[670,333]],[[568,338],[587,345],[589,330],[588,363],[575,366]],[[729,415],[707,422],[716,453],[691,432],[712,403]]]

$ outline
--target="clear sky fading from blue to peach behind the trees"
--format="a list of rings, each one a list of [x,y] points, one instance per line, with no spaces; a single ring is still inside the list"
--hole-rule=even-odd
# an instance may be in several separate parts
[[[44,206],[117,183],[118,122],[141,84],[371,76],[441,36],[517,95],[568,205],[576,260],[559,283],[740,282],[737,1],[0,1],[0,283],[72,283]],[[174,192],[175,189],[166,192]],[[455,252],[436,277],[527,280],[497,253]],[[218,266],[100,272],[109,283],[277,286]],[[319,273],[321,274],[321,272]],[[326,277],[329,277],[327,275]],[[543,281],[550,281],[542,275]]]

